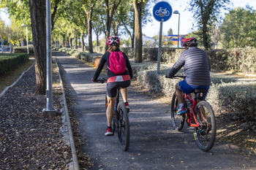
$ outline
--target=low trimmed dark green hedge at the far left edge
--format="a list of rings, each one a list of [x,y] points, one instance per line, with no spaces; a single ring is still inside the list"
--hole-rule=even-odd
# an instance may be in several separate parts
[[[18,68],[23,63],[29,61],[29,55],[26,53],[4,53],[0,54],[0,76]]]

